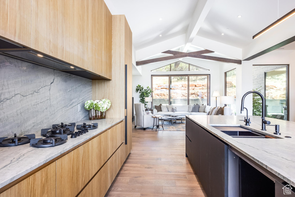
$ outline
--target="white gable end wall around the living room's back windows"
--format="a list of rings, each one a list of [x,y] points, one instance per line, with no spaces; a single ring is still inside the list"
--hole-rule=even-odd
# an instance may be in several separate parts
[[[143,65],[142,67],[142,76],[132,76],[132,95],[134,97],[134,103],[139,103],[139,93],[135,92],[135,88],[138,84],[144,86],[146,88],[147,86],[151,87],[151,75],[168,75],[168,74],[210,74],[210,102],[211,106],[215,106],[215,97],[212,97],[214,90],[219,90],[219,92],[223,92],[224,87],[220,85],[220,76],[221,71],[220,68],[224,66],[224,69],[226,71],[232,69],[232,64],[223,64],[216,61],[206,61],[206,60],[200,60],[195,58],[183,58],[182,61],[194,64],[196,66],[201,66],[206,69],[209,69],[209,71],[164,71],[164,72],[156,72],[151,71],[153,69],[159,68],[161,66],[165,66],[168,64],[171,64],[177,60],[171,60],[166,62],[160,62],[155,64],[148,64]],[[227,66],[228,69],[226,68]],[[235,66],[235,65],[234,65]],[[223,79],[224,80],[224,79]],[[219,98],[217,98],[217,106],[219,106]]]

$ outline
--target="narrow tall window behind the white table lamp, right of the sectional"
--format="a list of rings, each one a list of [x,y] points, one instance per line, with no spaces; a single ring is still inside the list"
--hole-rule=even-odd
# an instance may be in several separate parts
[[[235,98],[235,103],[229,104],[228,106],[232,109],[233,113],[236,113],[236,69],[227,71],[224,74],[224,95]]]

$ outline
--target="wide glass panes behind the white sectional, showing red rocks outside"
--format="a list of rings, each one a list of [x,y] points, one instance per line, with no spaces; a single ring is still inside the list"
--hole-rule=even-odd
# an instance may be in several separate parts
[[[152,75],[153,105],[210,104],[210,75]]]

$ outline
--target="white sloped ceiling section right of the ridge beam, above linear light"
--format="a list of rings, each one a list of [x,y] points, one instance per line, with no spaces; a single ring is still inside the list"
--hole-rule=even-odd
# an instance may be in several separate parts
[[[243,48],[253,35],[294,8],[295,0],[216,0],[197,35]]]

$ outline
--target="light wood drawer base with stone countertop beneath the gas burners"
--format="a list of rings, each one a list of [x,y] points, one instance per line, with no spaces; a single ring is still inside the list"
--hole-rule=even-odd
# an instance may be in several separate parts
[[[98,127],[76,138],[69,135],[68,140],[59,146],[36,148],[24,144],[0,147],[0,196],[17,195],[21,188],[24,196],[55,196],[55,193],[57,196],[76,196],[78,193],[87,196],[90,192],[87,185],[91,185],[100,173],[106,183],[99,188],[99,196],[104,196],[126,159],[124,118],[86,119],[76,125],[83,123],[98,123]],[[75,131],[78,131],[76,127]],[[34,134],[36,138],[42,137],[41,131]],[[38,191],[26,188],[30,181],[35,182]]]

